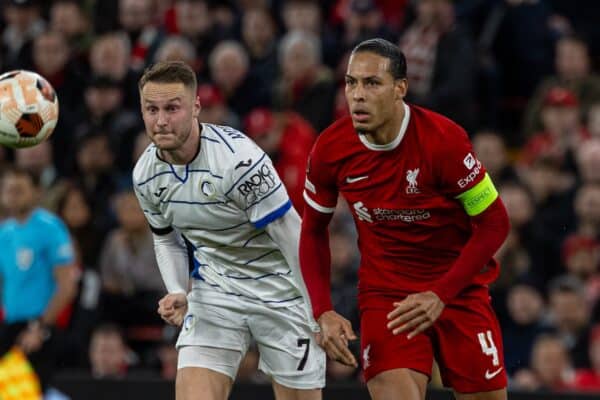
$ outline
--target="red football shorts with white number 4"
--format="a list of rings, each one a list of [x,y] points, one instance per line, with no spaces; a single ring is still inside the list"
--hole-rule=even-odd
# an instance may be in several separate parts
[[[435,324],[407,339],[387,328],[389,308],[364,307],[361,313],[361,358],[365,379],[380,372],[410,368],[431,377],[433,359],[445,386],[459,393],[506,387],[500,325],[486,287],[461,293],[444,308]]]

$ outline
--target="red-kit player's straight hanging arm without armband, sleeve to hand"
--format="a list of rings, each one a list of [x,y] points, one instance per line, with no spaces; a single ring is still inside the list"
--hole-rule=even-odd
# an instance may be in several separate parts
[[[356,367],[348,340],[356,339],[350,321],[333,310],[331,302],[331,259],[328,226],[337,202],[337,187],[328,173],[315,144],[308,161],[302,228],[300,231],[300,268],[306,283],[313,314],[321,332],[317,338],[327,355]]]

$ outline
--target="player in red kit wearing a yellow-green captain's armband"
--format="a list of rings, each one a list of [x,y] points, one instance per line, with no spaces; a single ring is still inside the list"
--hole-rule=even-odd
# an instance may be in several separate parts
[[[300,262],[320,344],[348,365],[355,334],[331,305],[327,226],[338,193],[361,253],[362,368],[376,400],[425,399],[435,358],[457,399],[506,399],[502,338],[487,284],[509,230],[465,131],[403,100],[400,49],[360,43],[346,72],[350,116],[317,139],[307,168]]]

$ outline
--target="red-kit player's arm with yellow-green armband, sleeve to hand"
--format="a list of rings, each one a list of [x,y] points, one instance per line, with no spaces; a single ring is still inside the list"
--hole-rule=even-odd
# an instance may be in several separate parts
[[[458,127],[456,127],[458,128]],[[415,293],[394,303],[388,329],[394,334],[410,332],[409,339],[429,328],[445,304],[473,282],[492,259],[510,228],[508,214],[494,183],[473,153],[466,133],[456,129],[452,141],[437,155],[441,190],[455,198],[471,218],[471,236],[452,268],[438,279],[430,291]]]

